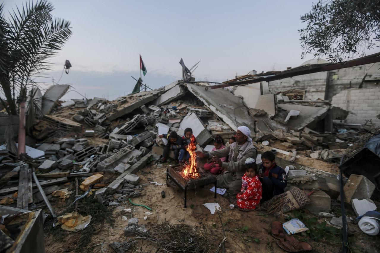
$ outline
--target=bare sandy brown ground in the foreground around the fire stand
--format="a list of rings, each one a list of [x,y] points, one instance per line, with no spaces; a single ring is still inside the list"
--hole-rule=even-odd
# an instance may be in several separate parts
[[[134,198],[133,201],[152,208],[152,215],[144,220],[143,217],[146,216],[145,212],[148,210],[144,207],[132,206],[128,202],[114,208],[113,215],[116,220],[114,228],[106,227],[107,224],[93,225],[96,231],[83,252],[114,252],[109,244],[125,241],[123,229],[128,225],[128,221],[123,220],[123,215],[119,211],[124,208],[132,209],[132,212],[126,215],[127,218],[138,218],[139,224],[145,225],[147,229],[165,220],[173,224],[190,225],[202,233],[207,228],[207,237],[215,244],[209,252],[214,252],[223,239],[223,234],[218,215],[211,214],[206,207],[202,206],[206,202],[218,202],[222,208],[220,215],[226,229],[226,252],[284,252],[277,246],[275,239],[270,234],[270,226],[275,217],[271,215],[268,217],[261,216],[262,213],[257,210],[252,212],[242,212],[238,209],[230,210],[228,199],[220,195],[214,199],[214,194],[209,191],[212,185],[188,191],[187,208],[184,208],[183,191],[166,185],[166,166],[167,164],[163,164],[161,167],[152,164],[138,173],[141,177],[140,183],[145,186],[142,190],[142,196]],[[149,181],[157,181],[164,185],[155,185]],[[165,191],[165,198],[161,198],[161,191]],[[285,221],[285,219],[278,220]],[[213,225],[214,223],[215,225]],[[244,226],[249,228],[249,231],[244,234],[235,230]],[[355,243],[350,245],[353,252],[379,251],[379,248],[375,246],[376,240],[374,239],[376,237],[365,235],[356,224],[351,223],[348,226],[350,238],[355,239]],[[61,241],[52,235],[45,235],[46,252],[75,252],[75,242],[78,237],[78,233],[66,233]],[[259,239],[260,243],[246,242],[255,238]],[[313,242],[308,236],[299,239],[309,242],[313,247],[312,252],[339,252],[341,247],[340,236],[329,236],[329,239],[319,242]],[[155,250],[156,248],[148,245],[147,242],[141,244],[141,240],[135,248],[135,252],[155,252]]]

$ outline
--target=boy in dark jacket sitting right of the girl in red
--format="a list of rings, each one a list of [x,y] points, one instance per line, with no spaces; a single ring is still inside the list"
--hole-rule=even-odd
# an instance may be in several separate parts
[[[273,198],[273,196],[284,192],[288,182],[286,172],[275,163],[274,153],[267,151],[261,155],[263,163],[259,168],[259,178],[263,185],[263,198],[261,202]]]

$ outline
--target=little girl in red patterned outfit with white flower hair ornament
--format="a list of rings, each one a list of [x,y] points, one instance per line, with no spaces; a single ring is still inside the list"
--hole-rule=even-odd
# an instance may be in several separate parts
[[[258,168],[255,159],[247,158],[245,165],[247,169],[241,178],[241,190],[236,195],[236,204],[240,209],[253,210],[260,203],[263,188],[258,178]]]

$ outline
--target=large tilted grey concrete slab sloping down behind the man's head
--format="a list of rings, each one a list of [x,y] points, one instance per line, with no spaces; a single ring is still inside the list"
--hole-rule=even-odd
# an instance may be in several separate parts
[[[248,108],[241,98],[224,89],[205,90],[206,86],[187,84],[188,90],[211,109],[233,130],[247,126],[255,136],[255,122],[248,114]]]

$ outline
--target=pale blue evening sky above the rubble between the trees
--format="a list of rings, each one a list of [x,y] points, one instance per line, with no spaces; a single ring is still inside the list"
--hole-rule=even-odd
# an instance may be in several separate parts
[[[6,0],[5,10],[24,2]],[[54,16],[71,21],[73,35],[52,59],[54,71],[45,81],[57,81],[68,59],[73,67],[60,84],[111,100],[133,89],[139,54],[148,71],[143,80],[153,88],[181,78],[181,58],[189,68],[201,61],[193,74],[201,81],[298,66],[304,62],[299,17],[316,0],[51,2]]]

